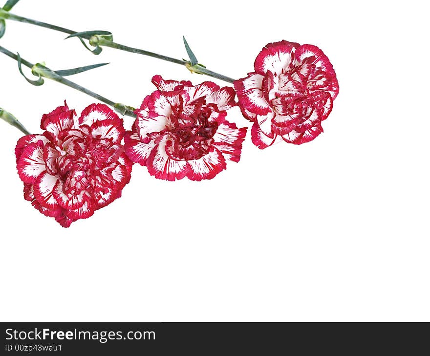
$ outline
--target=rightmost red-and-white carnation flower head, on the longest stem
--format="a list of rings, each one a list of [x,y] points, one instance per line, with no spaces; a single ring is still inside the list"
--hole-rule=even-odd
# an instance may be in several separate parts
[[[321,122],[339,92],[336,73],[318,47],[280,41],[267,44],[255,72],[235,81],[243,116],[254,124],[251,138],[263,149],[282,138],[309,142],[323,132]]]

